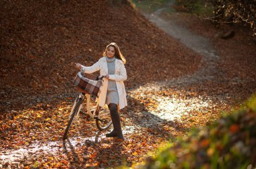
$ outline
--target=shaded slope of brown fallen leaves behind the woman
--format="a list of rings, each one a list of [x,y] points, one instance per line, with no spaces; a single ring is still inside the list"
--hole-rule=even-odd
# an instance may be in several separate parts
[[[127,4],[1,1],[0,7],[0,111],[74,93],[73,63],[92,65],[110,42],[127,58],[129,88],[191,73],[201,59]]]

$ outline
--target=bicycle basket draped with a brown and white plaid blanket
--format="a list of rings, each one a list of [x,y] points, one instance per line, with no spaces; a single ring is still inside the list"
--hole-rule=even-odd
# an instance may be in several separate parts
[[[75,76],[74,83],[78,91],[98,97],[102,80],[98,80],[98,77],[93,74],[86,73],[82,76],[81,72],[78,72],[77,76]]]

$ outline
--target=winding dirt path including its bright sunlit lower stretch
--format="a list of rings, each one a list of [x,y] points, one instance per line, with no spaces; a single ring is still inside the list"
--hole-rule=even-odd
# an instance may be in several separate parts
[[[220,107],[226,104],[230,97],[227,95],[209,95],[209,96],[195,96],[188,99],[180,99],[171,97],[163,97],[162,95],[156,95],[156,93],[164,91],[164,88],[179,90],[181,87],[193,87],[194,85],[203,84],[204,82],[216,82],[218,76],[222,76],[222,72],[218,70],[216,66],[220,60],[218,52],[212,47],[211,43],[207,38],[194,34],[187,30],[183,25],[179,25],[174,20],[165,20],[161,17],[162,11],[170,8],[172,2],[167,7],[158,9],[154,13],[143,13],[152,23],[160,27],[164,32],[179,40],[182,44],[185,44],[187,48],[191,48],[193,51],[201,54],[203,59],[199,64],[199,68],[193,74],[186,74],[179,78],[174,78],[168,81],[155,82],[146,84],[139,89],[131,91],[131,95],[137,93],[144,93],[143,97],[152,97],[159,104],[157,109],[150,111],[147,114],[152,115],[148,121],[141,121],[141,123],[147,123],[146,126],[154,125],[164,119],[166,121],[174,121],[175,119],[181,120],[183,115],[189,114],[191,111],[205,112],[214,107]],[[189,63],[188,63],[189,64]],[[147,95],[148,91],[150,95]],[[183,92],[184,94],[184,92]]]

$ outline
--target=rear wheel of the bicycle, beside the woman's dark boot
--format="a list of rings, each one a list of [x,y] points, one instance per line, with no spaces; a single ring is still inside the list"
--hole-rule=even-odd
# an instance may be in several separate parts
[[[108,108],[100,107],[98,105],[96,107],[96,116],[94,117],[97,128],[102,131],[107,129],[112,124],[112,119],[110,116],[110,111]]]

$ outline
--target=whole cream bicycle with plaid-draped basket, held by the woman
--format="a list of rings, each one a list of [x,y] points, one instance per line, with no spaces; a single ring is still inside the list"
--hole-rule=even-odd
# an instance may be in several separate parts
[[[94,74],[85,73],[84,68],[82,68],[82,70],[77,73],[77,76],[75,76],[75,86],[80,93],[76,97],[69,113],[69,122],[67,123],[63,139],[67,139],[69,129],[71,128],[72,123],[79,118],[79,112],[84,103],[86,103],[87,119],[95,119],[96,127],[100,131],[107,129],[112,124],[108,107],[100,107],[99,103],[96,103],[103,78],[104,76],[94,76]]]

